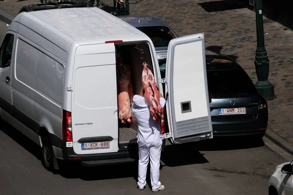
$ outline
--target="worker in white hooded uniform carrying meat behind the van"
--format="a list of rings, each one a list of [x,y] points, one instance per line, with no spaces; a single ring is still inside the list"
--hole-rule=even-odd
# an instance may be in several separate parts
[[[138,122],[137,143],[139,148],[138,182],[137,188],[144,190],[146,186],[146,171],[150,158],[150,179],[152,192],[165,189],[161,185],[160,178],[160,157],[162,150],[161,125],[153,120],[149,107],[144,98],[145,90],[142,89],[139,95],[134,95],[131,110]],[[160,104],[166,104],[166,99],[160,94]]]

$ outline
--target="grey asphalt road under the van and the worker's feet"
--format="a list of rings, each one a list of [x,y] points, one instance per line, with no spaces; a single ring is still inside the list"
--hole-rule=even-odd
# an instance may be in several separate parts
[[[0,22],[0,35],[6,25]],[[2,39],[2,37],[0,37]],[[136,165],[46,171],[41,150],[17,130],[0,124],[1,195],[146,195],[136,189]],[[288,161],[262,141],[214,139],[167,145],[160,180],[162,195],[267,195],[275,166]],[[149,178],[148,178],[148,183]]]

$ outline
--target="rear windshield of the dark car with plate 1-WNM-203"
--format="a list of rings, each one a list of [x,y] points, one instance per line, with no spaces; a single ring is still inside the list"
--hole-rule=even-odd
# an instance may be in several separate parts
[[[212,98],[236,98],[257,94],[253,82],[243,70],[207,71],[207,76]]]

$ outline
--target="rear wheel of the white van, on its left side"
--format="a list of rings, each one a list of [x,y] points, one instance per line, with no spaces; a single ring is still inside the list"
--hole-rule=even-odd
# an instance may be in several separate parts
[[[48,136],[42,137],[42,162],[48,171],[53,169],[52,144]]]

